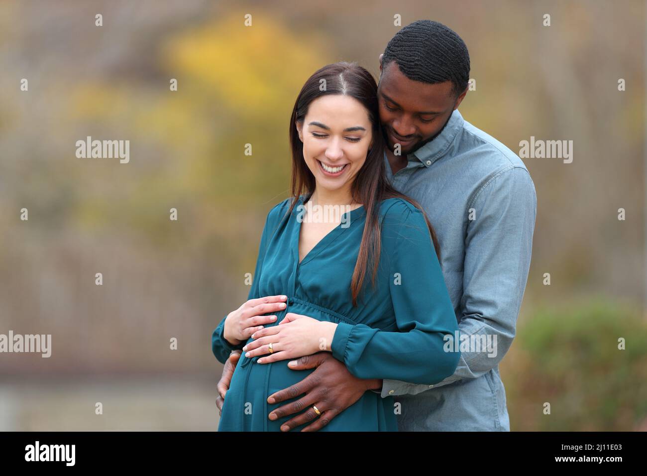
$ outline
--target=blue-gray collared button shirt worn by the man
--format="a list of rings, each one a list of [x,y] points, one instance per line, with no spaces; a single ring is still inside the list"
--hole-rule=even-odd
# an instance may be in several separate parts
[[[385,153],[388,178],[420,203],[437,232],[459,323],[459,339],[447,345],[469,346],[460,348],[454,375],[433,385],[384,380],[382,398],[400,403],[400,431],[509,431],[499,361],[516,332],[530,267],[534,183],[514,152],[457,109],[407,159],[393,176]]]

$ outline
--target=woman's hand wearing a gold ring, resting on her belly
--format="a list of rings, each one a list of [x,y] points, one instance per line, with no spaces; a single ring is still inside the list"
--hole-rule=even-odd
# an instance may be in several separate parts
[[[318,321],[307,315],[289,312],[278,326],[266,327],[252,334],[252,339],[243,352],[248,358],[258,359],[258,363],[271,363],[284,359],[309,356],[322,350],[331,350],[337,324]],[[272,344],[273,352],[269,345]]]

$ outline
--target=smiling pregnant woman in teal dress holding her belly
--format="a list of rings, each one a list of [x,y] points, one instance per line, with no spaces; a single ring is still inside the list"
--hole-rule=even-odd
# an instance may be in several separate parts
[[[433,384],[460,357],[444,350],[458,325],[432,225],[386,179],[373,76],[356,63],[314,73],[290,141],[291,198],[267,215],[247,302],[212,335],[221,363],[243,349],[219,431],[280,431],[289,416],[269,413],[298,396],[268,396],[313,371],[291,370],[291,359],[332,352],[358,378]],[[367,391],[321,431],[397,431],[396,409]],[[313,411],[325,418],[327,409]]]

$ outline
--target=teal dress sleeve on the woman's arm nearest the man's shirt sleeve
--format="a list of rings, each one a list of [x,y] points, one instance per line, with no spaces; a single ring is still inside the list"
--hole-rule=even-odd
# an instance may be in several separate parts
[[[454,374],[460,352],[445,352],[458,324],[421,210],[391,206],[382,227],[397,332],[339,323],[331,350],[357,378],[432,384]],[[450,347],[450,346],[448,346]],[[453,347],[450,350],[454,350]]]

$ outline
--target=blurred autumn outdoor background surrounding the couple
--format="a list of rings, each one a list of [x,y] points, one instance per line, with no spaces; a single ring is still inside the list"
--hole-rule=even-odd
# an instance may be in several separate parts
[[[53,342],[0,354],[0,430],[217,429],[210,337],[288,197],[296,95],[341,60],[377,79],[395,14],[465,40],[466,120],[514,152],[573,141],[573,163],[524,159],[538,216],[501,363],[511,429],[647,430],[647,22],[629,0],[1,2],[0,334]],[[77,159],[87,136],[129,140],[130,162]]]

